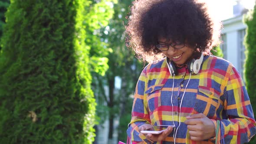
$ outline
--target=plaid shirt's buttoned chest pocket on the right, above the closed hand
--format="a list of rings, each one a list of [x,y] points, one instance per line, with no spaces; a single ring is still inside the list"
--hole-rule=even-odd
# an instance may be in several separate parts
[[[199,85],[194,110],[208,118],[213,118],[219,107],[219,98],[220,92],[214,88]]]

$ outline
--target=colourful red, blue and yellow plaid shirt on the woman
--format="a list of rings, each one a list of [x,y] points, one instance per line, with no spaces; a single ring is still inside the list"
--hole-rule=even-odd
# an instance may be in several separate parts
[[[220,120],[222,143],[242,144],[253,137],[256,123],[249,96],[243,80],[230,62],[204,56],[198,74],[190,77],[187,66],[177,68],[177,72],[174,77],[170,75],[166,59],[150,63],[141,72],[127,130],[131,141],[149,142],[138,132],[142,124],[175,125],[177,128],[181,115],[176,144],[214,144],[214,138],[200,142],[189,138],[184,121],[186,116],[197,113],[210,118],[215,128],[216,121]],[[175,132],[176,129],[164,141],[154,144],[173,144]]]

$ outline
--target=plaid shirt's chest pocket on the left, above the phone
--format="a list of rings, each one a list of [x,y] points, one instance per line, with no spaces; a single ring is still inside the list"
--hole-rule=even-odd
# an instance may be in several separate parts
[[[163,85],[152,85],[146,90],[146,94],[148,94],[148,108],[152,112],[159,106],[161,106],[161,89]]]

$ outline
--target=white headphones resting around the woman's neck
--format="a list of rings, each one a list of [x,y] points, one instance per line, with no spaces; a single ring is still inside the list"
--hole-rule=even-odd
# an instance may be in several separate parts
[[[176,70],[175,64],[169,58],[166,58],[168,69],[171,73],[171,76],[177,75],[178,72]],[[192,59],[188,65],[187,69],[190,73],[197,74],[200,70],[201,64],[203,62],[203,53],[201,54],[199,59]]]

